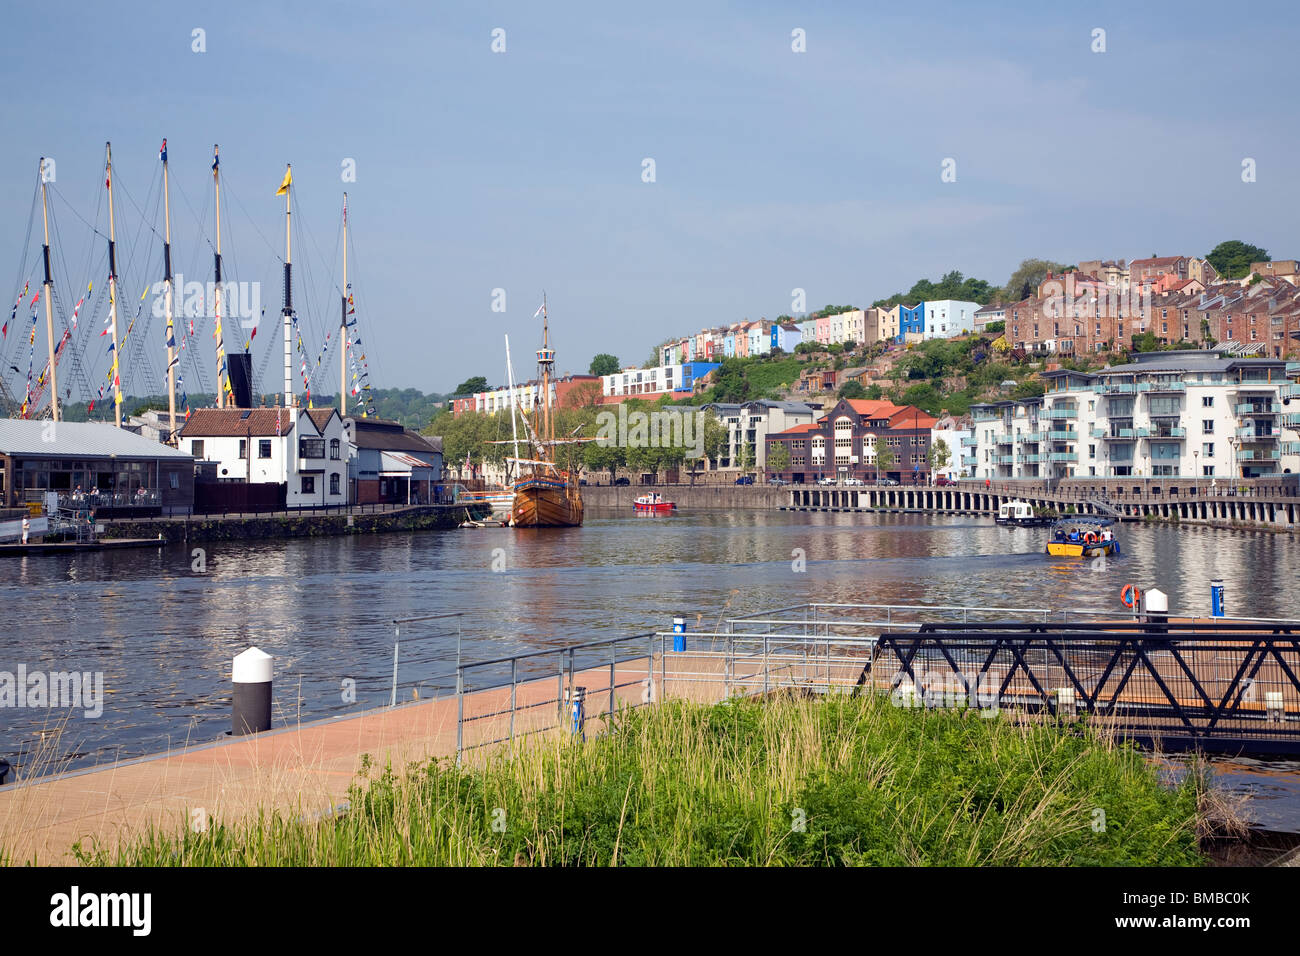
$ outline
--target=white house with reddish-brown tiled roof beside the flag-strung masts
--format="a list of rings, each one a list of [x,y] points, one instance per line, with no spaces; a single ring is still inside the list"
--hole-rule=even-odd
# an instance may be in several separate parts
[[[283,484],[287,507],[347,503],[344,446],[337,408],[196,408],[181,429],[218,481]]]

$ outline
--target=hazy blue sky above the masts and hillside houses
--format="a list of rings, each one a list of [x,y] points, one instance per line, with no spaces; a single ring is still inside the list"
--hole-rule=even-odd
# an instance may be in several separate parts
[[[283,381],[286,163],[308,364],[338,324],[346,190],[359,351],[373,385],[424,392],[503,382],[504,334],[532,376],[543,291],[558,371],[586,372],[597,352],[640,365],[670,336],[792,312],[794,290],[809,311],[867,306],[950,269],[1001,285],[1026,258],[1204,255],[1234,238],[1300,258],[1288,8],[1072,7],[12,7],[0,307],[40,282],[38,168],[53,157],[60,321],[96,284],[60,392],[88,398],[109,367],[104,144],[125,326],[162,274],[164,137],[187,280],[211,277],[221,146],[226,277],[259,282],[265,310],[261,393]],[[27,300],[0,345],[20,397]],[[162,328],[147,324],[144,308],[122,350],[129,393],[161,390]],[[188,347],[198,392],[211,325]],[[315,392],[337,390],[335,355]]]

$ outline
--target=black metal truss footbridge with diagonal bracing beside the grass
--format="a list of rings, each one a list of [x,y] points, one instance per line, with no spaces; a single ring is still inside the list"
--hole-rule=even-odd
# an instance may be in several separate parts
[[[880,636],[872,687],[914,706],[1105,718],[1170,749],[1300,752],[1300,624],[984,623]]]

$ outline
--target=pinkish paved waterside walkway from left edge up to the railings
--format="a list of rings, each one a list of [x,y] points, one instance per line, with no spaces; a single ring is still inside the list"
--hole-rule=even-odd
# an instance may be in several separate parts
[[[720,683],[679,674],[682,667],[694,674],[697,665],[692,656],[664,661],[660,654],[619,663],[615,706],[644,702],[649,674],[655,675],[655,696],[716,698]],[[588,734],[603,730],[610,676],[610,667],[603,666],[575,674],[575,683],[592,693]],[[564,718],[556,691],[555,676],[537,678],[514,688],[514,709],[511,688],[498,687],[465,693],[463,711],[451,695],[10,783],[0,787],[0,852],[10,865],[73,864],[78,842],[87,851],[112,849],[120,839],[150,827],[182,832],[273,810],[290,817],[329,816],[359,782],[363,754],[369,756],[372,773],[387,765],[400,771],[412,762],[454,758],[463,718],[468,739],[459,743],[465,760],[481,760],[488,741],[560,727]]]

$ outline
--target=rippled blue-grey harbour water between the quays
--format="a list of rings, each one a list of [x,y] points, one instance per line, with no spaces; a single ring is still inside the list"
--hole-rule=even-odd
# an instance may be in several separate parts
[[[710,627],[805,601],[1122,610],[1134,581],[1173,613],[1300,617],[1287,535],[1124,525],[1104,564],[1050,559],[1043,529],[988,519],[697,512],[489,528],[12,558],[0,585],[0,671],[101,671],[103,714],[0,709],[0,757],[26,766],[44,735],[82,767],[205,743],[230,726],[230,659],[274,656],[276,723],[389,700],[395,618],[464,611],[403,632],[402,697],[434,692],[458,653],[484,659],[580,640]],[[803,566],[803,571],[796,567]],[[202,567],[202,570],[195,570]],[[417,640],[416,640],[417,639]],[[410,641],[410,643],[408,643]],[[356,700],[344,700],[354,680]],[[1300,832],[1300,765],[1222,762],[1257,817]]]

